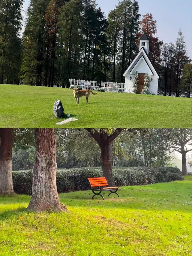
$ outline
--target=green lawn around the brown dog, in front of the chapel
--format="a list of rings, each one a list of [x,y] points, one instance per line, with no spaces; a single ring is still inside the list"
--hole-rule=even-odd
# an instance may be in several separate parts
[[[0,85],[0,127],[5,128],[191,128],[192,99],[99,92],[76,105],[63,88]],[[58,122],[52,108],[60,99],[66,114],[79,119]],[[62,121],[62,120],[61,120]]]

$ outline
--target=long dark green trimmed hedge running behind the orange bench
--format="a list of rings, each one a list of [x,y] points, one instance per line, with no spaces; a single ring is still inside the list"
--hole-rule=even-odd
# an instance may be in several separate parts
[[[113,176],[117,186],[148,185],[183,179],[178,170],[172,167],[153,170],[146,167],[114,167]],[[102,167],[57,170],[58,193],[90,189],[87,178],[102,176]],[[13,171],[13,188],[17,194],[32,194],[32,170]]]

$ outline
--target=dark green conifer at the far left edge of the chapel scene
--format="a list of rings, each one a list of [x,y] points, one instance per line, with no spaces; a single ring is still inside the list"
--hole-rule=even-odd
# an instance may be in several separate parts
[[[0,84],[18,83],[23,0],[0,1]]]

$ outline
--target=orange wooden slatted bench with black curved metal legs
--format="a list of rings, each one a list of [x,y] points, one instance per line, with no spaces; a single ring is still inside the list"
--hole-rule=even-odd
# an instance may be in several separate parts
[[[110,193],[108,194],[108,197],[110,194],[117,194],[117,190],[119,187],[108,187],[108,182],[105,177],[102,178],[88,178],[88,181],[91,185],[91,190],[93,191],[93,196],[91,199],[93,199],[95,196],[101,196],[104,200],[104,197],[101,195],[101,192],[103,190],[109,190]],[[115,191],[113,191],[115,190]],[[95,193],[95,191],[99,191],[99,193]],[[118,195],[118,194],[117,194]],[[119,197],[119,195],[118,195]]]

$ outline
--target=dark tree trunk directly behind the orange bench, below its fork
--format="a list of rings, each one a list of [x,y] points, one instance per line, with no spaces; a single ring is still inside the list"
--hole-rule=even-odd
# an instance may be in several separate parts
[[[111,152],[110,152],[110,143],[108,141],[107,135],[103,135],[103,139],[101,143],[99,143],[101,147],[101,161],[102,161],[102,170],[103,176],[106,177],[108,184],[110,187],[115,186],[115,182],[113,179],[113,171],[111,166]]]

